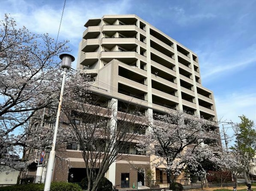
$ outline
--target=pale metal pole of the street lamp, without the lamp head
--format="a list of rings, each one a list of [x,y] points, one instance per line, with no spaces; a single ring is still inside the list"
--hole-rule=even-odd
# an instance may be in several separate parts
[[[62,98],[63,98],[66,71],[67,71],[67,68],[64,68],[61,90],[60,90],[60,100],[59,100],[56,122],[55,122],[55,127],[54,127],[54,139],[53,139],[53,144],[52,144],[52,147],[51,147],[51,152],[50,152],[49,159],[48,159],[48,164],[47,164],[44,191],[50,191],[51,179],[52,179],[52,174],[53,174],[53,171],[54,171],[55,145],[56,145],[56,139],[57,139],[58,126],[59,126],[60,109],[61,109]]]

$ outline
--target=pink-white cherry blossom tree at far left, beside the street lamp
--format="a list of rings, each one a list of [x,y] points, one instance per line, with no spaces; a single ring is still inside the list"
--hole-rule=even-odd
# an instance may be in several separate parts
[[[60,92],[61,53],[68,41],[34,35],[5,14],[0,21],[0,164],[22,169],[17,156],[29,147],[32,116],[55,107]],[[34,132],[36,133],[36,132]],[[39,135],[39,133],[36,133]],[[34,145],[35,144],[31,144]],[[20,164],[20,165],[19,165]]]

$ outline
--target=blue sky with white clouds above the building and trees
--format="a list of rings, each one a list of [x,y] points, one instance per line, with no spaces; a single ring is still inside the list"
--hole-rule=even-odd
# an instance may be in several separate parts
[[[64,0],[0,0],[0,19],[57,38]],[[137,14],[196,52],[204,87],[213,90],[218,119],[256,122],[255,0],[66,0],[59,40],[77,57],[83,25],[104,14]]]

